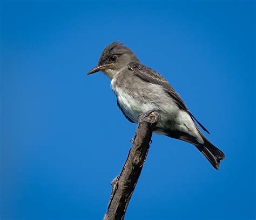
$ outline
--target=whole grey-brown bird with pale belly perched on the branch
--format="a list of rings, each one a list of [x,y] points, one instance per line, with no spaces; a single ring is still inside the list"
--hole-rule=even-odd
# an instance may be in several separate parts
[[[117,106],[125,118],[138,123],[141,113],[158,112],[161,118],[154,132],[193,144],[215,169],[219,168],[225,154],[207,140],[196,122],[209,132],[188,110],[170,83],[140,63],[131,49],[120,42],[108,45],[100,55],[98,65],[88,75],[99,71],[111,79]]]

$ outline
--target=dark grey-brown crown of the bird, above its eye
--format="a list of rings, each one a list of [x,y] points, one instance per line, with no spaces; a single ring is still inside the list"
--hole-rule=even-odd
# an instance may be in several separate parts
[[[109,61],[110,57],[113,55],[122,55],[124,53],[133,54],[133,52],[128,47],[125,47],[124,44],[118,41],[114,41],[112,44],[105,47],[104,51],[100,55],[99,65],[103,65]]]

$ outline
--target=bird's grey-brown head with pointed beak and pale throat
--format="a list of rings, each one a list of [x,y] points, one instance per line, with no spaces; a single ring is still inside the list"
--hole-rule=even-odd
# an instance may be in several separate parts
[[[112,42],[105,47],[98,64],[87,75],[103,71],[110,79],[113,79],[120,71],[127,68],[129,62],[139,62],[139,60],[131,49],[120,42]]]

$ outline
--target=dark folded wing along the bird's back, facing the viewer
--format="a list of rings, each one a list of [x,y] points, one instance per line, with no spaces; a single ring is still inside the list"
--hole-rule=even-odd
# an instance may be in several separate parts
[[[170,83],[163,76],[161,76],[159,73],[157,73],[153,69],[145,65],[142,65],[141,63],[138,63],[138,62],[130,62],[128,64],[128,68],[131,71],[133,71],[134,74],[136,74],[138,77],[140,77],[140,79],[146,82],[158,84],[164,87],[167,94],[169,94],[173,98],[173,100],[178,104],[179,108],[183,109],[184,111],[187,111],[190,114],[190,116],[193,119],[195,119],[196,122],[201,126],[201,128],[207,133],[209,133],[207,129],[200,122],[198,122],[198,120],[192,115],[192,113],[190,113],[190,111],[186,107],[186,104],[183,102],[183,100],[181,100],[181,97],[179,96],[179,94],[176,93],[176,91],[172,88]]]

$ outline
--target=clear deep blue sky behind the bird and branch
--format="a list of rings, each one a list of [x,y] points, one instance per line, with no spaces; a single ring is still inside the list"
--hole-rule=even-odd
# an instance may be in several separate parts
[[[1,1],[1,219],[102,219],[136,125],[87,76],[119,40],[226,154],[154,135],[126,219],[254,219],[255,2]]]

